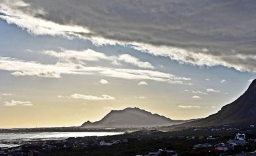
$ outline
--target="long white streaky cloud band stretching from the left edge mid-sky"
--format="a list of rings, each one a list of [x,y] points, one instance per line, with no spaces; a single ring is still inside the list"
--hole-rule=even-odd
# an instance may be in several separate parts
[[[61,75],[102,75],[121,79],[148,79],[174,84],[189,84],[187,77],[177,77],[170,73],[140,69],[114,69],[109,67],[85,67],[77,63],[42,64],[34,61],[22,61],[14,58],[0,57],[0,70],[11,71],[15,76],[36,76],[60,78]]]

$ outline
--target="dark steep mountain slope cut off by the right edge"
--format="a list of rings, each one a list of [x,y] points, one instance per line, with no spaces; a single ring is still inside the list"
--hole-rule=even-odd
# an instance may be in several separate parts
[[[256,79],[243,95],[231,104],[222,107],[216,114],[179,126],[217,126],[224,124],[239,126],[256,124]]]

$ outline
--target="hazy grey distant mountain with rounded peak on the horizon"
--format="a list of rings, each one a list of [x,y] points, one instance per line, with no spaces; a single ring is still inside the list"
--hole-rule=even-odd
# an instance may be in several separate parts
[[[171,120],[158,114],[152,114],[139,108],[125,108],[112,110],[102,120],[97,122],[84,122],[86,128],[128,128],[128,127],[154,127],[181,124],[186,120]]]

